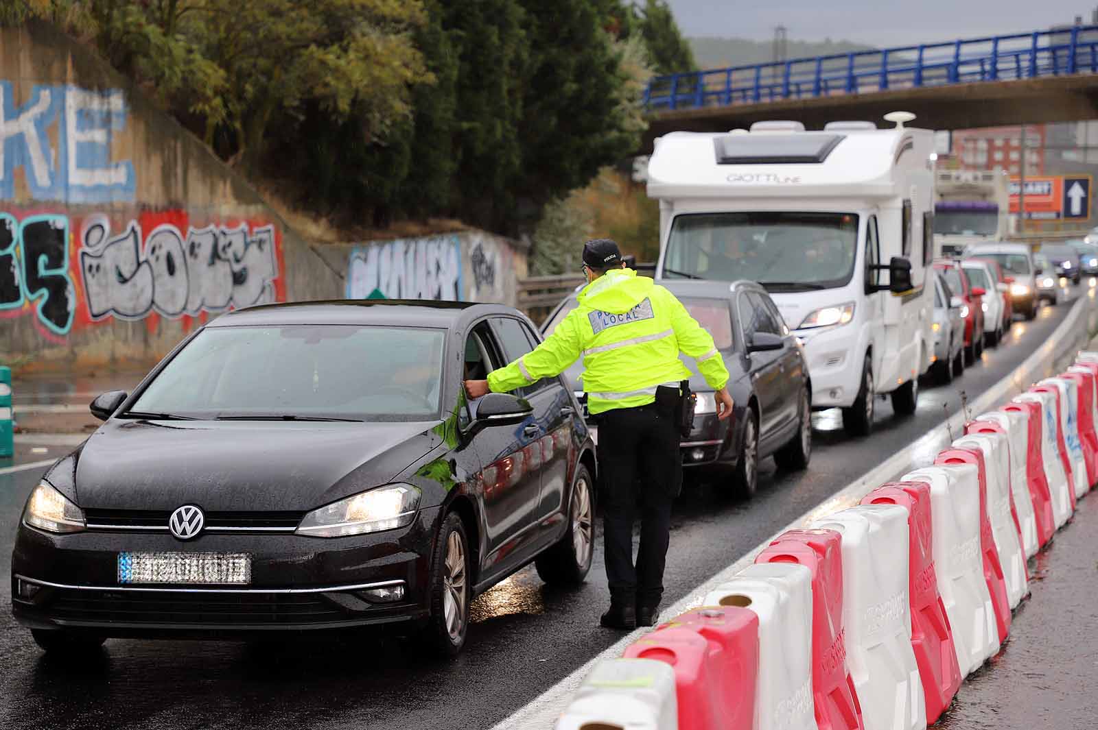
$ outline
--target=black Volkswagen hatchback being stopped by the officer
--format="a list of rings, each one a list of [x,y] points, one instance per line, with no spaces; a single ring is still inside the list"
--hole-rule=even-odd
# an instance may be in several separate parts
[[[105,637],[403,623],[458,652],[478,593],[591,566],[593,443],[546,378],[467,402],[539,341],[497,305],[332,301],[224,315],[33,490],[18,620],[47,650]]]

